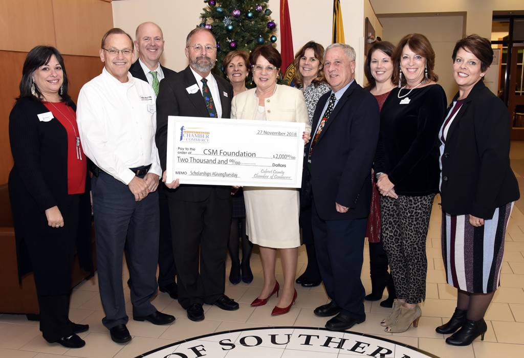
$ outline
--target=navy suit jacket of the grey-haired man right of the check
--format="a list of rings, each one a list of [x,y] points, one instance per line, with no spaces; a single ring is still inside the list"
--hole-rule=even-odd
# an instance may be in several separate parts
[[[330,95],[331,91],[324,94],[316,105],[311,138]],[[326,121],[311,157],[313,200],[323,220],[368,216],[371,200],[369,183],[378,130],[377,100],[353,82]],[[307,170],[310,145],[306,147],[304,170]],[[350,209],[345,213],[337,212],[335,203]]]

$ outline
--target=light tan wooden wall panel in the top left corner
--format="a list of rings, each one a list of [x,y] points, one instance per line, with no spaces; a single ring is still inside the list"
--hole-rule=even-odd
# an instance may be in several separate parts
[[[8,35],[0,42],[4,51],[55,46],[52,0],[0,0],[0,33]]]

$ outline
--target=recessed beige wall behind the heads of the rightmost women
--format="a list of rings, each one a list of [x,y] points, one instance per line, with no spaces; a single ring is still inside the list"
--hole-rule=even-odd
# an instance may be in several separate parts
[[[381,17],[383,40],[397,44],[408,33],[422,33],[435,51],[435,73],[446,92],[448,102],[457,91],[451,71],[451,54],[457,39],[463,36],[463,16]]]

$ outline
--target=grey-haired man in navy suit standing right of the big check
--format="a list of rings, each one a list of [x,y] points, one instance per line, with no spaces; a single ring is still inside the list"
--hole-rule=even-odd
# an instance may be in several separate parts
[[[339,331],[366,319],[360,276],[379,115],[376,99],[354,80],[355,50],[334,43],[324,59],[332,91],[316,106],[304,164],[310,169],[316,255],[331,298],[314,313],[336,315],[325,327]]]

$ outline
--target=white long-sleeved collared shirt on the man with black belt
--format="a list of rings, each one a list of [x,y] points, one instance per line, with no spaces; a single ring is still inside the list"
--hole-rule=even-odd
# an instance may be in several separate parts
[[[155,92],[130,73],[127,77],[122,83],[104,68],[82,87],[77,105],[85,154],[126,185],[135,177],[129,168],[151,164],[149,173],[162,173],[155,144]]]

